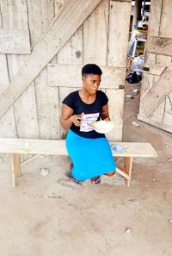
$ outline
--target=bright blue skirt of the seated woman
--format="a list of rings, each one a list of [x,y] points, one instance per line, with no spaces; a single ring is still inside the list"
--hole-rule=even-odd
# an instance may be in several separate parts
[[[107,138],[83,138],[69,129],[65,141],[74,166],[71,173],[77,180],[115,171],[116,165]]]

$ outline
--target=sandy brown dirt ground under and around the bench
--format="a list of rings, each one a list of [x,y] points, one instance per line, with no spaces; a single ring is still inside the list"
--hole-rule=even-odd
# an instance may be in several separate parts
[[[139,86],[126,84],[126,94]],[[2,156],[0,256],[172,255],[172,135],[144,122],[134,127],[138,103],[139,93],[125,97],[124,141],[149,141],[159,157],[134,159],[130,189],[118,174],[72,184],[69,159],[47,156],[23,164],[13,189]]]

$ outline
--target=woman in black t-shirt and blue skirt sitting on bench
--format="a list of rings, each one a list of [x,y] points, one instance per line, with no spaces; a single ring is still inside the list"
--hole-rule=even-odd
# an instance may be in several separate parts
[[[101,68],[95,64],[83,66],[83,88],[64,98],[61,125],[68,129],[66,147],[71,157],[70,178],[77,184],[91,178],[99,184],[100,176],[114,175],[116,165],[105,134],[99,134],[89,125],[99,120],[110,121],[108,99],[98,91]]]

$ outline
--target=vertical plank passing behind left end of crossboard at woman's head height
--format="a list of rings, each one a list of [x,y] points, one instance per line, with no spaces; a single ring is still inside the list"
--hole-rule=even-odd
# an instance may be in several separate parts
[[[39,40],[40,34],[42,34],[49,23],[52,22],[55,14],[55,6],[58,10],[60,9],[62,2],[58,3],[59,1],[54,3],[54,1],[51,0],[28,1],[29,27],[33,47]],[[37,25],[35,26],[35,24]],[[47,68],[40,72],[40,75],[34,82],[40,138],[57,139],[59,138],[58,88],[50,88],[47,86]]]

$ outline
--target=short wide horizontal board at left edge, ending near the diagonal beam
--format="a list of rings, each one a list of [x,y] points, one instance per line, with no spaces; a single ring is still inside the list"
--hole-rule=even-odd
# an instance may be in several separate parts
[[[28,29],[0,29],[0,53],[31,53]]]

